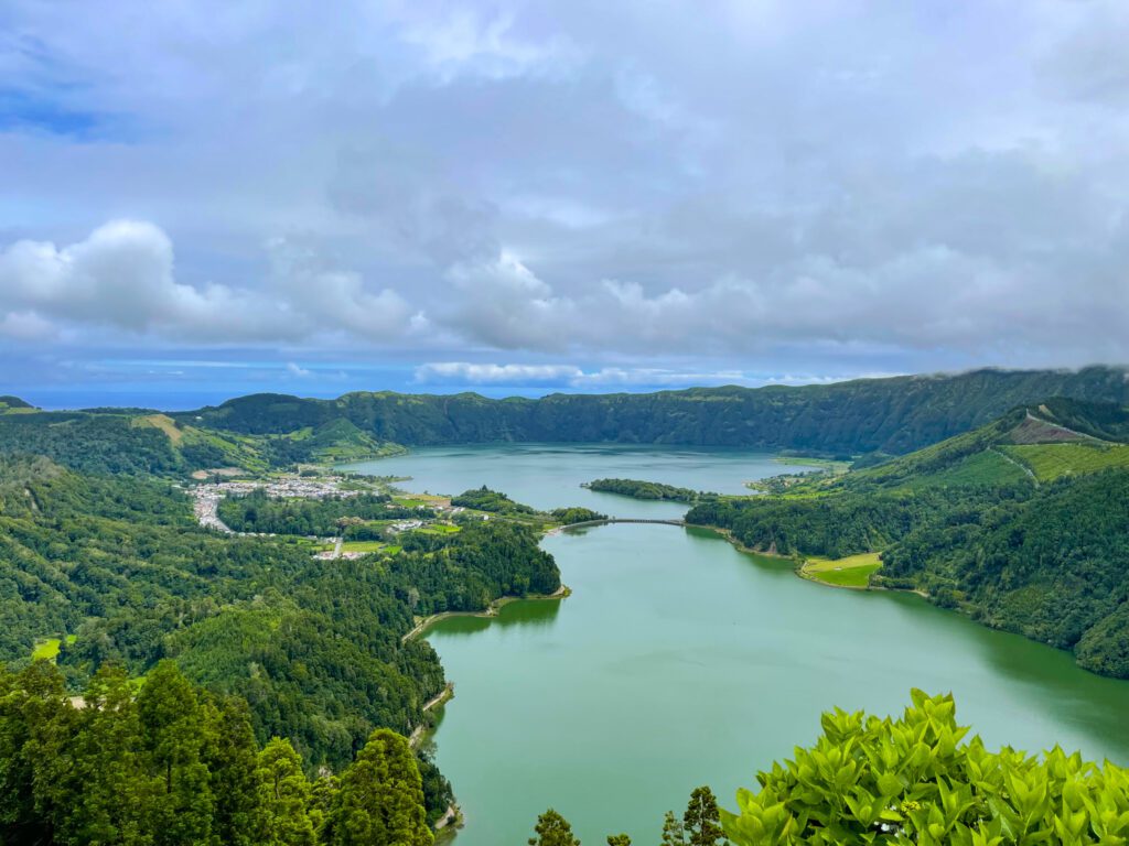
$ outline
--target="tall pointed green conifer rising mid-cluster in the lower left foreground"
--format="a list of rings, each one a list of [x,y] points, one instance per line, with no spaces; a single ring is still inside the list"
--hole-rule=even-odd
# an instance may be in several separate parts
[[[155,846],[210,846],[216,802],[202,760],[207,726],[196,693],[172,661],[161,661],[138,694],[143,747],[157,777]]]

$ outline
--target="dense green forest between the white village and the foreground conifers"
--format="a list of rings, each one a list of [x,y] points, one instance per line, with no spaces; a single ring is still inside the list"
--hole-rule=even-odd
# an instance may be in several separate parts
[[[261,741],[340,767],[377,726],[409,733],[444,686],[417,615],[482,610],[560,587],[539,536],[489,521],[392,558],[315,561],[308,547],[200,529],[166,482],[0,460],[0,661],[58,642],[81,685],[107,662],[140,678],[175,658],[251,706]]]

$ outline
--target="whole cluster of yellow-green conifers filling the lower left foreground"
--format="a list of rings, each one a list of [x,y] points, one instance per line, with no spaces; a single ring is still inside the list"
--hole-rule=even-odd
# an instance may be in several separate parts
[[[287,740],[170,661],[140,689],[100,669],[76,705],[58,669],[0,668],[6,846],[430,846],[408,741],[378,729],[340,779],[310,784]]]

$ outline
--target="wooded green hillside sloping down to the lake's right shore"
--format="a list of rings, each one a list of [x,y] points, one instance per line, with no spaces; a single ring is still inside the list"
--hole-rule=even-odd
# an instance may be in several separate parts
[[[688,514],[754,549],[881,552],[872,584],[1074,650],[1129,678],[1129,412],[1052,399],[942,443],[787,493]]]

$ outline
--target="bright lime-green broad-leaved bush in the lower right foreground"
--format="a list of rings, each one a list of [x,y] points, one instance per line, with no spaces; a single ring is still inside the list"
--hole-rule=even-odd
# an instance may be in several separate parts
[[[811,844],[1126,844],[1129,770],[1056,747],[989,752],[955,720],[952,696],[912,691],[900,720],[823,715],[823,737],[761,773],[723,811],[737,846]]]

